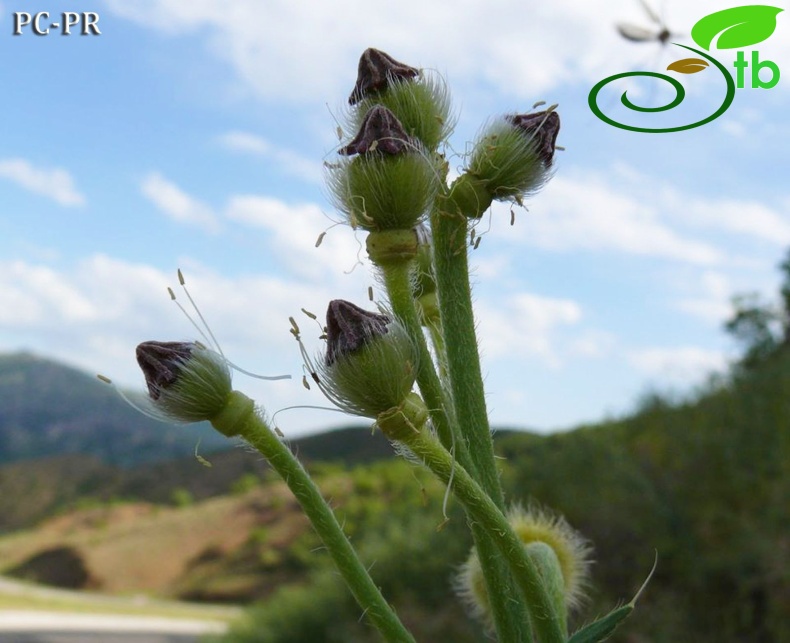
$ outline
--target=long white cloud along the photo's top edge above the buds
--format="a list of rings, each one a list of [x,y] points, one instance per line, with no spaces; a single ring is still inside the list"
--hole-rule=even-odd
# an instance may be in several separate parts
[[[348,95],[356,62],[375,46],[413,65],[534,99],[561,83],[594,82],[623,71],[635,52],[616,21],[647,18],[635,3],[556,0],[464,2],[452,11],[403,0],[261,3],[258,0],[108,0],[110,10],[170,34],[206,33],[210,50],[266,99],[312,100]],[[720,9],[713,0],[676,5],[678,30]],[[441,37],[439,37],[441,36]],[[652,51],[657,52],[656,43]],[[641,51],[647,51],[647,46]],[[646,54],[649,59],[650,56]]]

